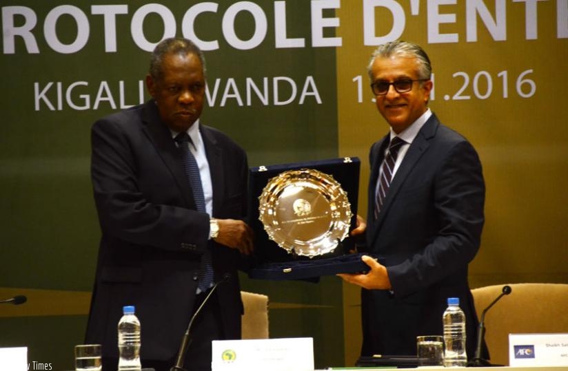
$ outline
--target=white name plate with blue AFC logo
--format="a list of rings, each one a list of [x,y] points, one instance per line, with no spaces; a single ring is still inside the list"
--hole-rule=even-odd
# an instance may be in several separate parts
[[[568,366],[568,334],[509,334],[509,365]]]

